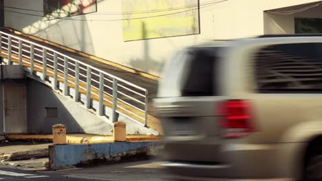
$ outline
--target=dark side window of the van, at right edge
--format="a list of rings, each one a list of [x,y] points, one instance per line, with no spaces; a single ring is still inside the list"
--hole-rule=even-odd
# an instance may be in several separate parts
[[[255,75],[261,93],[321,92],[322,44],[265,47],[255,55]]]

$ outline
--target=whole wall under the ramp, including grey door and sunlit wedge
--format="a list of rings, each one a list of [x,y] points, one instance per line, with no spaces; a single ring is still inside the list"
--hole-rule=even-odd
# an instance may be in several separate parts
[[[20,65],[0,67],[0,133],[51,134],[52,125],[63,123],[69,134],[112,134],[107,117],[98,117],[81,102],[25,74]],[[151,130],[133,121],[120,119],[127,123],[127,134],[151,134]]]

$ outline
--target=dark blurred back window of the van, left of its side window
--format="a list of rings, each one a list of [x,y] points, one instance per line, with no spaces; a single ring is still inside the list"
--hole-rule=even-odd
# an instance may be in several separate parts
[[[217,65],[221,47],[200,47],[189,49],[189,67],[186,81],[181,90],[182,96],[218,95]]]

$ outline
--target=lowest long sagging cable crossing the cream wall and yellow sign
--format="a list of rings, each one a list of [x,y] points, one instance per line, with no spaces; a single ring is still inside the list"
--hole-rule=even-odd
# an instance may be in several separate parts
[[[184,11],[180,11],[180,12],[174,12],[174,13],[169,13],[169,14],[160,14],[160,15],[155,15],[155,16],[143,16],[143,17],[138,17],[138,18],[131,18],[131,19],[69,19],[69,18],[56,18],[56,19],[65,19],[65,20],[71,20],[71,21],[125,21],[125,20],[134,20],[134,19],[149,19],[149,18],[155,18],[155,17],[160,17],[160,16],[169,16],[169,15],[173,15],[173,14],[180,14],[183,12],[189,12],[192,10],[198,10],[198,9],[202,9],[202,8],[206,8],[209,7],[211,5],[215,5],[217,3],[222,3],[224,1],[228,1],[228,0],[222,0],[222,1],[215,1],[213,3],[208,3],[208,4],[203,4],[203,5],[198,5],[198,8],[193,8],[190,10],[184,10]],[[23,12],[15,12],[15,11],[11,11],[11,10],[5,10],[3,9],[3,11],[6,12],[13,12],[13,13],[17,13],[17,14],[24,14],[24,15],[29,15],[29,16],[39,16],[39,17],[44,17],[41,15],[37,15],[37,14],[29,14],[29,13],[23,13]],[[51,20],[56,20],[56,19],[51,19]],[[51,21],[49,20],[49,21]]]

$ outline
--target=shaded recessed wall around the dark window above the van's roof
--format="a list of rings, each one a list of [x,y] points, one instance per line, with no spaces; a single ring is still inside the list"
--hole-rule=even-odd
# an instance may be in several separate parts
[[[295,18],[322,18],[322,5],[294,14],[264,12],[264,34],[294,34]]]

